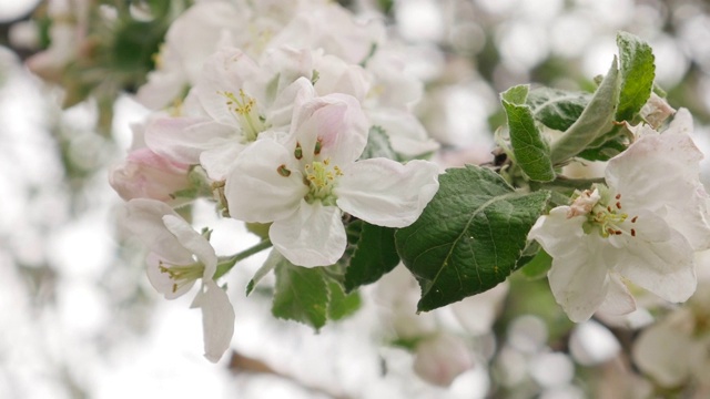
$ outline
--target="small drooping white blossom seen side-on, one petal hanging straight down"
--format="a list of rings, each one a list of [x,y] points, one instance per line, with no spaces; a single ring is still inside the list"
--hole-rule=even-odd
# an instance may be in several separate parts
[[[182,296],[202,279],[192,307],[202,309],[205,357],[220,360],[234,334],[234,309],[213,279],[217,257],[207,239],[154,200],[130,201],[124,223],[150,248],[148,278],[166,299]]]

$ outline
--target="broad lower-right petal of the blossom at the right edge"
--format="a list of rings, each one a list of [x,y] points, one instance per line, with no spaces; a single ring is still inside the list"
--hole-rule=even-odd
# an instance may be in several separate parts
[[[616,250],[615,269],[666,300],[686,301],[698,284],[692,247],[672,228],[663,242],[645,241],[643,232],[639,229],[636,237],[627,238],[626,247]]]

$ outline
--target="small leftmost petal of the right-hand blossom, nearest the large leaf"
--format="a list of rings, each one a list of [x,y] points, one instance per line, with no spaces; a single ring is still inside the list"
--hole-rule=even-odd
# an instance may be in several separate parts
[[[586,216],[567,217],[571,208],[558,206],[549,215],[540,216],[528,239],[537,241],[551,257],[569,257],[577,250],[577,243],[585,236],[582,224]]]

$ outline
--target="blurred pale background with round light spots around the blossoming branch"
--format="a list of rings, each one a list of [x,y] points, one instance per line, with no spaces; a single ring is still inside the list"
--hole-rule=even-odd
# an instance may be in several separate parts
[[[130,3],[0,0],[0,398],[662,393],[629,366],[635,331],[652,320],[648,311],[623,323],[575,326],[546,279],[514,275],[507,295],[479,304],[481,315],[491,314],[489,328],[452,327],[450,315],[436,315],[438,326],[465,329],[469,337],[467,371],[442,388],[415,374],[415,355],[393,342],[398,327],[389,325],[392,310],[384,305],[397,300],[387,295],[395,283],[367,287],[359,313],[316,335],[274,319],[267,289],[244,297],[263,255],[229,276],[235,287],[230,290],[236,311],[233,350],[216,365],[207,362],[200,313],[189,309],[189,298],[166,301],[150,286],[144,254],[116,231],[115,209],[123,202],[108,183],[110,168],[130,146],[130,124],[149,112],[132,93],[173,17],[145,21],[133,10],[134,19],[111,27],[85,21],[79,57],[68,68],[52,64],[68,52],[58,38],[75,39],[78,32],[52,32],[58,24],[51,20],[71,24],[89,8],[100,21],[102,13],[115,12],[112,7],[140,9],[142,2]],[[341,3],[384,18],[404,43],[407,69],[425,82],[416,111],[443,143],[445,164],[491,158],[493,132],[505,122],[498,93],[509,86],[594,90],[594,76],[616,53],[619,30],[651,44],[657,83],[672,106],[691,111],[696,142],[710,150],[710,6],[703,0]],[[115,62],[126,42],[142,43],[129,47],[142,57],[134,64]],[[47,49],[54,52],[50,60]],[[710,164],[703,166],[708,184]],[[223,233],[213,236],[219,253],[255,243],[237,222],[217,218],[207,203],[195,205],[193,223],[220,226]],[[430,321],[430,315],[415,320],[413,304],[403,306],[412,314],[403,323]]]

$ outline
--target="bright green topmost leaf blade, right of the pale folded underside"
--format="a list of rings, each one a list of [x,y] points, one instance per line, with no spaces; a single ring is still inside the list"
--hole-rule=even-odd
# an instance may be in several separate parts
[[[621,92],[617,121],[630,121],[648,101],[653,89],[656,65],[653,50],[631,33],[617,34],[621,69]]]

